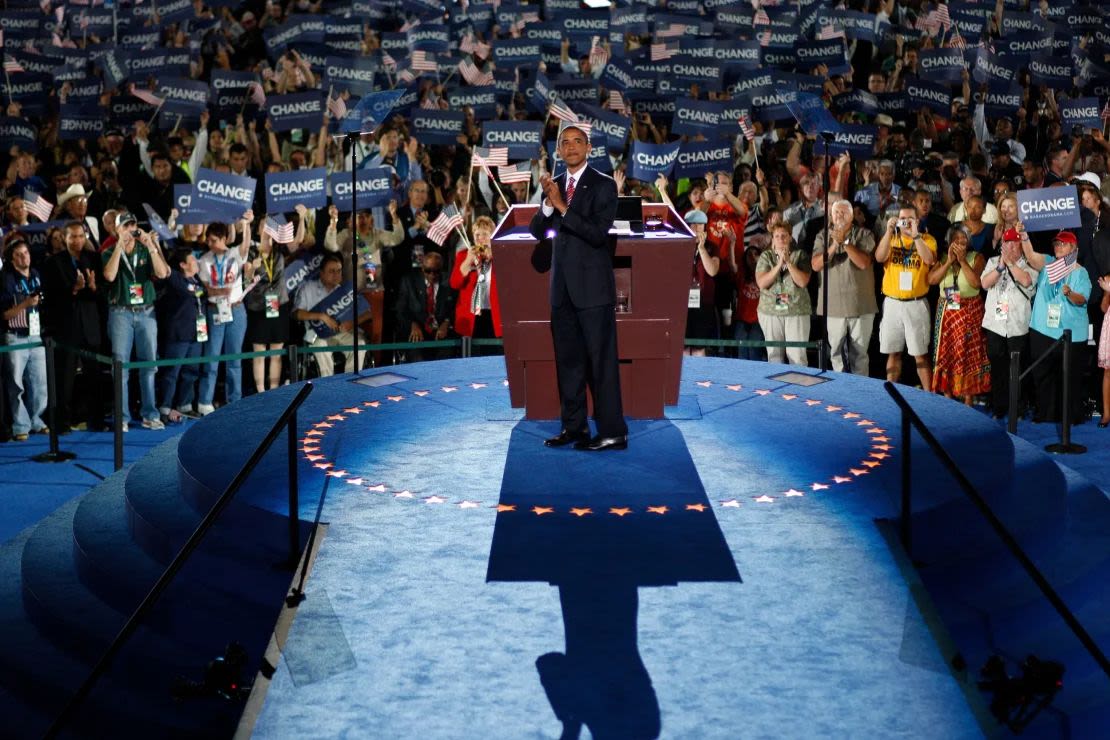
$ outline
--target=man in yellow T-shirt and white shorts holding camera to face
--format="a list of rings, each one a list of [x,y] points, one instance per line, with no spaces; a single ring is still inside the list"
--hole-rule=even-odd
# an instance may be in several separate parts
[[[898,210],[887,222],[886,232],[875,249],[875,260],[882,272],[882,320],[879,323],[879,352],[887,355],[887,379],[901,378],[901,353],[917,363],[917,376],[926,391],[932,387],[929,366],[929,266],[937,261],[937,241],[919,231],[917,210]]]

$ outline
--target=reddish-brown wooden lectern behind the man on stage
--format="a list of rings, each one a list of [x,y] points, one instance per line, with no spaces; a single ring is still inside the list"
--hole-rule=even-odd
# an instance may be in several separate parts
[[[548,300],[551,240],[528,223],[538,205],[514,205],[493,235],[513,408],[559,417]],[[625,416],[662,418],[678,403],[694,234],[669,206],[645,203],[645,233],[610,234],[617,285],[617,355]]]

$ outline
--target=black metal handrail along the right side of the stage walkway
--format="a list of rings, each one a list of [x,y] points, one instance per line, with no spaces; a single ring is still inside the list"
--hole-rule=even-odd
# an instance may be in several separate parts
[[[960,485],[960,488],[963,489],[963,493],[967,494],[968,498],[971,499],[971,503],[979,509],[979,513],[987,519],[988,524],[990,524],[991,528],[995,530],[995,534],[998,535],[998,538],[1001,539],[1002,544],[1010,550],[1010,554],[1013,555],[1033,582],[1037,584],[1041,594],[1045,595],[1045,598],[1048,599],[1049,604],[1052,605],[1052,608],[1060,615],[1060,618],[1068,625],[1068,628],[1071,629],[1072,633],[1074,633],[1074,636],[1079,639],[1083,648],[1086,648],[1090,656],[1094,658],[1094,662],[1097,662],[1107,677],[1110,678],[1110,659],[1107,659],[1106,653],[1103,653],[1098,643],[1094,642],[1083,625],[1076,618],[1076,615],[1071,612],[1071,609],[1069,609],[1068,605],[1063,602],[1060,595],[1056,592],[1052,585],[1048,582],[1048,579],[1045,578],[1037,565],[1029,558],[1028,555],[1026,555],[1026,551],[1021,549],[1017,538],[1010,534],[1010,530],[1005,524],[1002,524],[1002,520],[999,519],[998,516],[991,510],[990,505],[988,505],[986,499],[983,499],[983,497],[979,494],[971,480],[963,475],[963,470],[960,469],[960,466],[957,465],[956,460],[953,460],[951,455],[948,454],[948,450],[945,449],[940,442],[932,435],[932,432],[930,432],[929,427],[925,425],[921,417],[917,415],[917,412],[915,412],[909,405],[906,397],[901,395],[901,392],[895,387],[895,384],[887,381],[882,384],[882,387],[886,388],[887,393],[890,394],[890,397],[894,398],[895,403],[898,404],[898,407],[901,409],[902,508],[900,530],[902,536],[902,546],[906,548],[906,553],[910,556],[910,559],[914,557],[911,551],[912,540],[910,538],[910,515],[912,501],[910,496],[909,475],[909,435],[910,427],[912,426],[917,428],[918,434],[921,435],[925,443],[929,445],[929,448],[934,452],[934,454],[940,458],[944,466],[948,468],[949,473],[952,474],[952,477],[956,478],[956,481]]]

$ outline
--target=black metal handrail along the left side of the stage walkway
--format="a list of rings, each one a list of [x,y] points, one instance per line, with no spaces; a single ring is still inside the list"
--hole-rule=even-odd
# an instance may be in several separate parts
[[[127,641],[131,638],[131,636],[135,632],[135,630],[139,629],[140,624],[148,617],[151,609],[154,608],[154,605],[158,602],[158,599],[162,596],[165,589],[169,588],[170,582],[174,579],[174,577],[178,575],[181,568],[184,567],[185,561],[190,558],[190,556],[192,556],[193,551],[200,546],[201,540],[204,539],[204,536],[208,534],[209,529],[212,528],[212,525],[215,524],[216,519],[220,518],[220,515],[223,514],[224,509],[228,508],[228,505],[231,504],[231,499],[235,497],[235,494],[239,493],[239,489],[242,488],[244,483],[246,483],[246,479],[250,477],[251,473],[253,473],[258,464],[262,462],[262,457],[270,449],[270,446],[274,443],[274,440],[278,439],[278,436],[282,433],[282,430],[289,427],[289,434],[291,435],[291,437],[295,438],[296,409],[301,407],[301,404],[303,404],[304,399],[309,397],[309,394],[312,393],[312,389],[313,389],[312,383],[311,382],[305,383],[304,386],[302,386],[301,389],[297,392],[296,396],[293,398],[290,405],[285,408],[285,410],[282,412],[282,415],[274,423],[273,427],[271,427],[265,438],[254,449],[250,458],[248,458],[246,463],[239,470],[239,473],[235,475],[232,481],[228,484],[228,487],[224,489],[223,494],[220,496],[219,499],[216,499],[216,503],[212,505],[212,508],[204,516],[201,523],[196,526],[196,529],[193,530],[193,534],[190,535],[189,539],[185,540],[185,544],[181,546],[181,550],[173,558],[173,561],[170,562],[169,566],[167,566],[165,570],[151,587],[150,592],[147,594],[145,598],[143,598],[142,604],[140,604],[135,608],[131,617],[128,618],[128,621],[120,629],[119,633],[117,633],[111,645],[109,645],[108,648],[104,650],[104,653],[97,661],[97,665],[92,667],[91,671],[89,671],[89,675],[85,677],[84,681],[81,683],[80,687],[78,687],[77,691],[73,693],[72,697],[70,697],[69,701],[65,702],[65,706],[62,708],[62,711],[58,714],[58,717],[54,718],[54,721],[51,722],[50,727],[47,729],[47,732],[43,736],[44,738],[57,738],[58,733],[61,732],[62,729],[64,729],[65,724],[73,718],[73,714],[77,712],[81,703],[89,698],[89,693],[92,692],[92,689],[97,685],[97,681],[100,680],[100,677],[103,676],[109,668],[111,668],[112,661],[115,659],[115,656],[119,655],[120,650],[123,649],[124,643],[127,643]],[[293,470],[295,465],[296,465],[296,459],[294,456],[291,455],[290,469]],[[293,478],[291,483],[295,486],[295,478]],[[290,491],[289,517],[290,517],[291,531],[293,531],[293,535],[291,536],[290,540],[290,546],[296,549],[297,547],[296,495],[295,491],[292,489]],[[295,557],[296,557],[295,553],[290,554],[291,559]]]

